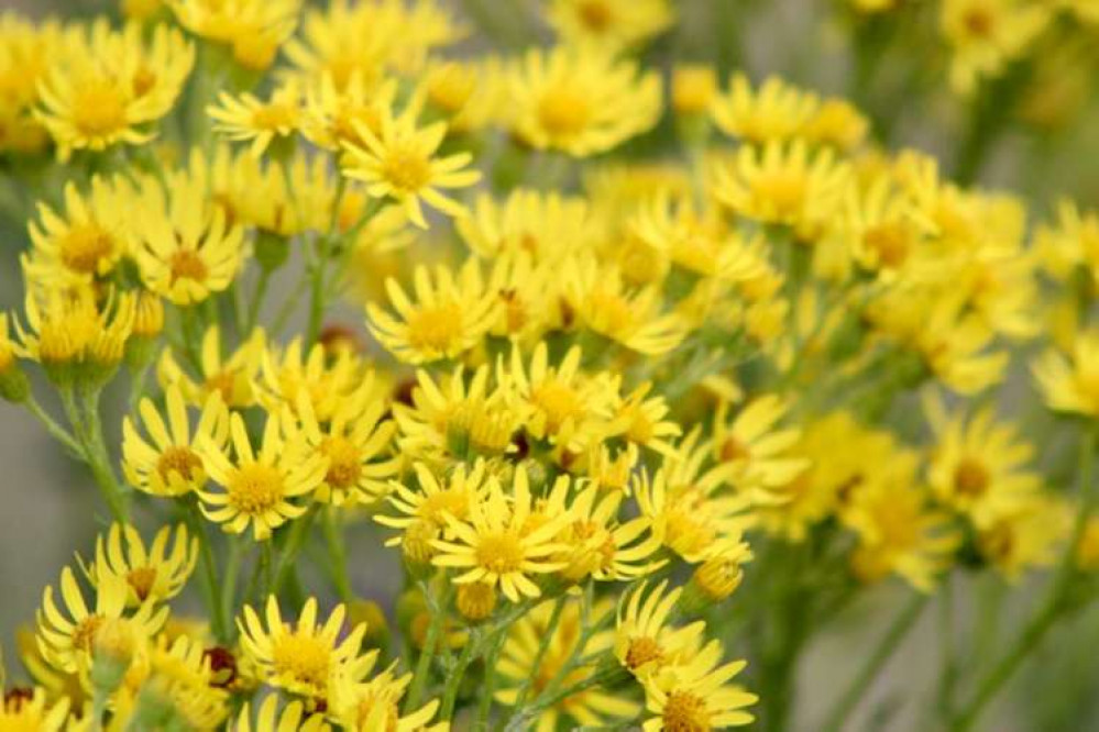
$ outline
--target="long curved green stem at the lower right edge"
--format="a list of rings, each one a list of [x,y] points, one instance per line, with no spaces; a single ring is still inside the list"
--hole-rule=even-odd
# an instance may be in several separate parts
[[[1045,634],[1053,628],[1056,620],[1068,609],[1066,600],[1073,589],[1073,580],[1077,573],[1076,548],[1079,546],[1080,537],[1084,535],[1084,530],[1087,528],[1088,519],[1091,517],[1096,503],[1095,480],[1092,479],[1096,436],[1097,429],[1089,428],[1080,440],[1079,510],[1076,513],[1068,545],[1065,547],[1065,554],[1057,567],[1057,574],[1051,584],[1046,599],[1015,637],[1015,641],[1008,647],[1008,652],[1003,654],[999,663],[977,685],[977,691],[972,699],[961,708],[954,720],[952,729],[955,732],[972,729],[981,712],[996,697],[1000,688],[1014,675],[1023,661],[1030,656],[1031,652],[1037,647]]]

